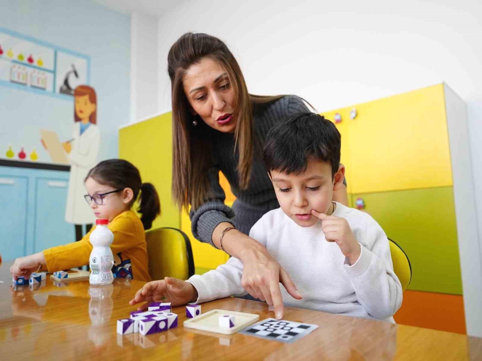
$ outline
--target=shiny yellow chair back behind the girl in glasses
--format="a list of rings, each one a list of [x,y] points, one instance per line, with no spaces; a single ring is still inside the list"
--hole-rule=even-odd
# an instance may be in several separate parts
[[[187,280],[194,274],[194,258],[186,233],[176,228],[146,232],[149,274],[153,280],[176,277]]]

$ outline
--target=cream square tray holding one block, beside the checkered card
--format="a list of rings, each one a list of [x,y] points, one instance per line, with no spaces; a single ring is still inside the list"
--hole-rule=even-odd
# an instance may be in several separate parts
[[[229,329],[219,327],[219,316],[225,315],[234,316],[234,327]],[[184,327],[231,335],[257,320],[259,320],[259,315],[255,315],[254,313],[228,311],[226,309],[212,309],[211,311],[184,321]]]

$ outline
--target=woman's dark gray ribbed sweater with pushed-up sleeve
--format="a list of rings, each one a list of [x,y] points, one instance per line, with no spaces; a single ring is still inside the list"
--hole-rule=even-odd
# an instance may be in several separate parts
[[[303,100],[295,95],[268,104],[254,107],[254,133],[262,144],[268,131],[285,116],[294,113],[309,112]],[[245,234],[266,212],[278,208],[273,185],[268,178],[267,170],[261,157],[255,157],[248,189],[239,187],[238,152],[234,153],[234,135],[213,131],[214,167],[209,170],[211,183],[216,199],[210,200],[198,209],[191,210],[192,234],[201,242],[212,244],[214,228],[221,222],[229,222]],[[232,209],[224,204],[225,193],[219,185],[219,170],[223,172],[236,196]]]

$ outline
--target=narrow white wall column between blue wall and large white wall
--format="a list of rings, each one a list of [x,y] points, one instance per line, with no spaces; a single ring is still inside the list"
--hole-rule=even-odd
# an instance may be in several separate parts
[[[159,112],[158,18],[131,14],[131,122]]]

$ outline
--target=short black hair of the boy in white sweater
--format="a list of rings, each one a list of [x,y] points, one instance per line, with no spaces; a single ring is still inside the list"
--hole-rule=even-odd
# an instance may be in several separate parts
[[[328,162],[332,176],[340,165],[341,136],[335,124],[315,113],[285,117],[269,130],[263,157],[268,172],[300,174],[308,167],[308,157]]]

